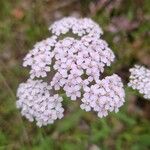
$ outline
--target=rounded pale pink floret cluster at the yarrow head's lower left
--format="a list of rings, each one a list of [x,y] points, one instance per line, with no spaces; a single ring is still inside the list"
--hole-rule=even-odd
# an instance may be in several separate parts
[[[51,96],[50,89],[42,80],[29,79],[21,83],[17,91],[17,107],[22,115],[29,121],[35,119],[40,127],[63,117],[62,98],[57,94]]]

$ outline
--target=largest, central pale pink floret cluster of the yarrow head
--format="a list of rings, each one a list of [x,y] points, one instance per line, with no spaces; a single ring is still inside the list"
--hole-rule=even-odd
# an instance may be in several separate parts
[[[84,85],[99,80],[104,67],[109,66],[115,57],[105,41],[86,36],[81,40],[60,40],[55,45],[54,53],[57,73],[51,85],[55,90],[63,87],[72,100],[81,96]],[[85,76],[88,76],[86,80]]]

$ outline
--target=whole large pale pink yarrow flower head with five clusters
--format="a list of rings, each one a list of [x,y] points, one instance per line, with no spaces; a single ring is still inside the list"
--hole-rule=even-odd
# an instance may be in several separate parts
[[[88,18],[67,17],[54,22],[49,30],[52,36],[35,44],[24,58],[30,78],[17,92],[22,115],[36,120],[38,126],[61,119],[64,109],[59,91],[73,101],[80,100],[81,109],[96,111],[99,117],[117,112],[125,101],[123,83],[116,74],[102,79],[115,55],[101,39],[98,24]]]

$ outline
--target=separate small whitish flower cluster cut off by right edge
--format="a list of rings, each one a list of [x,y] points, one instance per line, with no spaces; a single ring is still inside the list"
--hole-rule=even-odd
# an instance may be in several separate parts
[[[128,86],[138,90],[145,99],[150,99],[150,70],[139,65],[130,69],[130,82]]]

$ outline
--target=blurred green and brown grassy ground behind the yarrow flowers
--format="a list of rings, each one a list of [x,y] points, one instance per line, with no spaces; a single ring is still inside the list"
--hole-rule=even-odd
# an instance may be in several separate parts
[[[126,86],[125,105],[103,119],[65,96],[65,117],[53,125],[38,128],[21,117],[15,93],[28,78],[22,59],[64,16],[91,17],[103,28],[116,55],[107,74],[126,84],[135,63],[150,67],[149,0],[0,0],[0,150],[150,149],[150,102]]]

